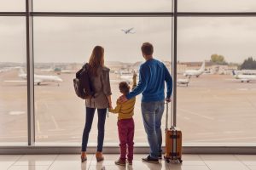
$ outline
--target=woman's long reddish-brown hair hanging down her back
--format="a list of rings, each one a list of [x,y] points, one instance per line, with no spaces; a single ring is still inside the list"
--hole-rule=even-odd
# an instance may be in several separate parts
[[[89,65],[90,65],[90,74],[93,76],[97,76],[97,69],[100,66],[104,66],[104,48],[101,46],[96,46],[93,48],[92,53],[90,55]]]

